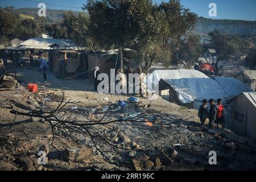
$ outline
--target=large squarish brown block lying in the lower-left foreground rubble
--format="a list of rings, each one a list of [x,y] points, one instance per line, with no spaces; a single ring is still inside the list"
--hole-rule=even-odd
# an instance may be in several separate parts
[[[92,147],[88,145],[65,147],[64,148],[64,159],[69,162],[82,162],[86,159],[90,159],[93,154]]]

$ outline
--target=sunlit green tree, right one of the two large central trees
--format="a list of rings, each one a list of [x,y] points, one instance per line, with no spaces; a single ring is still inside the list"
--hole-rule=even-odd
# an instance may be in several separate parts
[[[140,1],[137,7],[139,20],[138,51],[144,72],[152,63],[171,64],[171,57],[179,48],[180,39],[186,39],[196,23],[197,15],[185,9],[179,0],[162,2]],[[170,41],[172,40],[172,41]]]

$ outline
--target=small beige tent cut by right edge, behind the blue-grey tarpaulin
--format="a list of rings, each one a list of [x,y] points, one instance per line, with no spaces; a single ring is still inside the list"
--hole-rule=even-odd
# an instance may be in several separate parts
[[[243,82],[243,84],[249,86],[251,89],[256,91],[256,71],[254,70],[246,70],[240,72],[236,79]]]

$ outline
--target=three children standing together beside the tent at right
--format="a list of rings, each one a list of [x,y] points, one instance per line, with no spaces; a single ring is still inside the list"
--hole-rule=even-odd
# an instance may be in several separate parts
[[[222,100],[219,98],[217,100],[217,105],[214,99],[209,101],[210,107],[207,106],[207,100],[203,100],[203,105],[200,106],[198,111],[198,117],[200,118],[201,127],[205,129],[205,121],[209,119],[209,133],[214,133],[214,124],[218,127],[220,124],[222,128],[225,125],[224,119],[224,106],[222,105]]]

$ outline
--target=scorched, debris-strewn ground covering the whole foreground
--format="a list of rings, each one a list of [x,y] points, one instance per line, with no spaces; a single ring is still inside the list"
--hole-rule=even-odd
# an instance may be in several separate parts
[[[14,71],[14,69],[11,69]],[[66,105],[61,112],[84,121],[101,119],[104,110],[118,100],[130,96],[98,94],[92,92],[88,80],[59,80],[53,75],[47,84],[35,69],[16,68],[20,86],[13,90],[0,91],[0,169],[1,170],[255,170],[255,141],[218,129],[209,134],[200,129],[197,110],[164,101],[140,99],[134,113],[155,113],[138,119],[138,122],[113,122],[108,125],[90,127],[93,134],[112,140],[114,146],[97,140],[96,145],[108,160],[103,158],[92,139],[84,133],[74,133],[55,127],[52,133],[48,122],[40,118],[11,114],[11,110],[27,112],[42,106],[57,107],[64,90]],[[28,82],[38,82],[39,92],[30,93]],[[22,86],[24,85],[24,86]],[[108,98],[108,99],[107,99]],[[145,105],[150,107],[144,107]],[[20,106],[23,107],[20,108]],[[160,112],[160,113],[159,113]],[[125,117],[119,112],[109,112],[104,120],[113,121]],[[154,122],[148,126],[145,121]],[[121,119],[122,120],[122,119]],[[53,135],[54,134],[54,135]],[[53,141],[54,136],[54,142]],[[52,143],[52,144],[51,144]],[[39,148],[47,146],[48,162],[39,166]],[[64,148],[89,146],[90,158],[79,162],[64,159]],[[174,156],[174,150],[176,154]],[[164,152],[163,152],[164,151]],[[217,165],[209,165],[209,151],[216,151]],[[164,154],[166,153],[166,154]],[[173,156],[171,156],[173,155]]]

